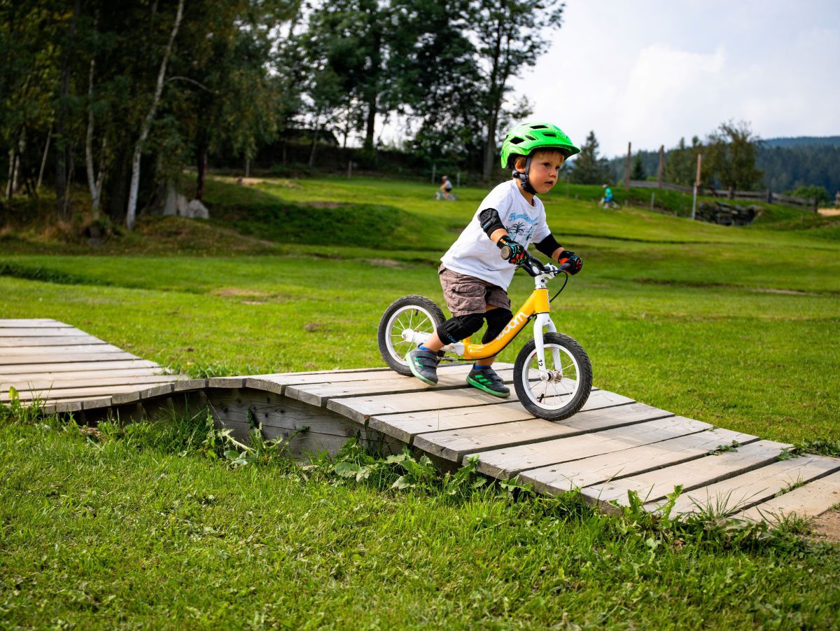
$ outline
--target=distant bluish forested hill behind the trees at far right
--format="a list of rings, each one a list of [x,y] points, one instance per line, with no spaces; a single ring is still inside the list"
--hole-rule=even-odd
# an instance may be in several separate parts
[[[642,164],[648,176],[655,176],[659,151],[642,150]],[[635,154],[634,154],[635,155]],[[668,160],[669,150],[665,151]],[[613,181],[624,178],[626,156],[609,160]],[[798,136],[762,141],[756,166],[764,171],[764,184],[775,192],[799,186],[825,187],[830,197],[840,191],[840,136]]]

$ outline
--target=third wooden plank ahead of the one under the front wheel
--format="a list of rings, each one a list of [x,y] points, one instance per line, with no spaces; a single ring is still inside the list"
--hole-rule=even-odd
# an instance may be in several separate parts
[[[618,453],[595,455],[522,471],[519,479],[531,484],[537,492],[556,495],[701,458],[722,444],[732,444],[732,440],[746,444],[757,438],[729,429],[709,429]]]

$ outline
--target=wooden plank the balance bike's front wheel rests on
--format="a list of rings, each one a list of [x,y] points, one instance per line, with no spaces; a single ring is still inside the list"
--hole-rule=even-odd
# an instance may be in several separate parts
[[[591,393],[589,400],[585,403],[583,411],[575,414],[571,418],[583,417],[588,414],[587,411],[601,410],[601,414],[641,414],[638,420],[649,420],[651,418],[659,418],[658,415],[645,416],[650,411],[656,410],[643,403],[624,403],[617,404],[619,395],[614,392],[603,390],[596,390]],[[626,397],[622,397],[624,401],[631,401]],[[615,406],[612,407],[611,406]],[[632,406],[632,407],[628,407]],[[606,408],[610,408],[607,412]],[[627,408],[627,409],[624,409]],[[615,410],[616,412],[613,412]],[[662,413],[663,416],[674,416],[673,413],[663,412],[657,410],[657,413]],[[444,410],[427,410],[422,412],[409,412],[399,414],[378,414],[371,416],[368,421],[368,426],[371,429],[377,429],[386,434],[390,434],[404,443],[411,444],[412,439],[417,434],[428,434],[430,432],[441,432],[450,429],[470,428],[479,425],[492,425],[496,423],[512,423],[513,421],[523,421],[528,418],[534,418],[533,414],[522,407],[520,402],[507,402],[501,405],[493,406],[493,408],[486,408],[486,406],[475,406],[470,408],[452,408]]]

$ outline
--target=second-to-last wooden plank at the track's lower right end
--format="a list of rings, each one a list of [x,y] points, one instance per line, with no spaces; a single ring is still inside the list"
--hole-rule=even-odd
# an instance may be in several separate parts
[[[840,460],[819,455],[805,455],[780,460],[755,471],[723,480],[695,491],[683,493],[671,514],[697,513],[706,508],[716,515],[738,513],[766,502],[790,486],[816,480],[840,470]],[[648,511],[655,511],[662,502],[648,502]]]

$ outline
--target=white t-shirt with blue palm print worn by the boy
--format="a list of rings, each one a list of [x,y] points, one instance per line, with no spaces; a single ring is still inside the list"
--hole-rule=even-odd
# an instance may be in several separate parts
[[[507,234],[524,248],[549,236],[545,208],[538,197],[533,198],[533,206],[529,204],[515,180],[502,182],[484,198],[464,232],[441,257],[447,269],[507,290],[516,266],[501,258],[498,246],[481,229],[478,216],[486,208],[496,208]]]

